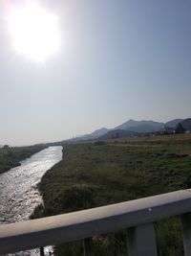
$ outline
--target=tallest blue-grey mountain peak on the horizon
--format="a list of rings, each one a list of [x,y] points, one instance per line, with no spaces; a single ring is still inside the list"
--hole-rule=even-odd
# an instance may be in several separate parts
[[[150,127],[149,129],[155,129],[159,130],[160,128],[163,127],[163,123],[159,123],[159,122],[154,122],[154,121],[146,121],[146,120],[142,120],[142,121],[135,121],[130,119],[129,121],[123,123],[122,125],[118,126],[115,129],[128,129],[128,130],[134,130],[134,128],[137,128],[139,126],[143,126],[143,128],[146,129],[145,126]],[[152,128],[151,128],[152,127]],[[145,132],[145,131],[142,131]]]

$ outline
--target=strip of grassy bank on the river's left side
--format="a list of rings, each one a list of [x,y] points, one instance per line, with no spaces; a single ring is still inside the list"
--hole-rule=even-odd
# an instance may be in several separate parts
[[[44,148],[44,145],[35,145],[0,149],[0,174],[9,171],[12,167],[19,166],[21,160],[32,156],[33,153]]]

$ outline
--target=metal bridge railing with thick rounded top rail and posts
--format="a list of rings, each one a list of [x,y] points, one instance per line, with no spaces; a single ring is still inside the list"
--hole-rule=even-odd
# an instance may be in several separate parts
[[[129,256],[157,256],[154,221],[180,216],[184,255],[191,255],[191,190],[111,204],[32,221],[0,225],[0,255],[20,250],[84,240],[91,255],[91,238],[127,230]]]

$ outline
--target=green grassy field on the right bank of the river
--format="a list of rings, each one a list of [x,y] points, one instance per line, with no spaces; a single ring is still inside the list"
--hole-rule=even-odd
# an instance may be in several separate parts
[[[143,198],[191,187],[191,135],[65,145],[63,160],[43,176],[44,206],[33,218]],[[182,253],[180,221],[156,223],[159,255]],[[82,243],[55,247],[56,255],[82,255]],[[126,255],[124,232],[94,238],[93,255]]]

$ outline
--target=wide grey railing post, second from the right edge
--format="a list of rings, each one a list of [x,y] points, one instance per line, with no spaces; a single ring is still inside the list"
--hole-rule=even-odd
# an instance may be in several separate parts
[[[157,244],[153,223],[127,229],[129,256],[157,256]]]

